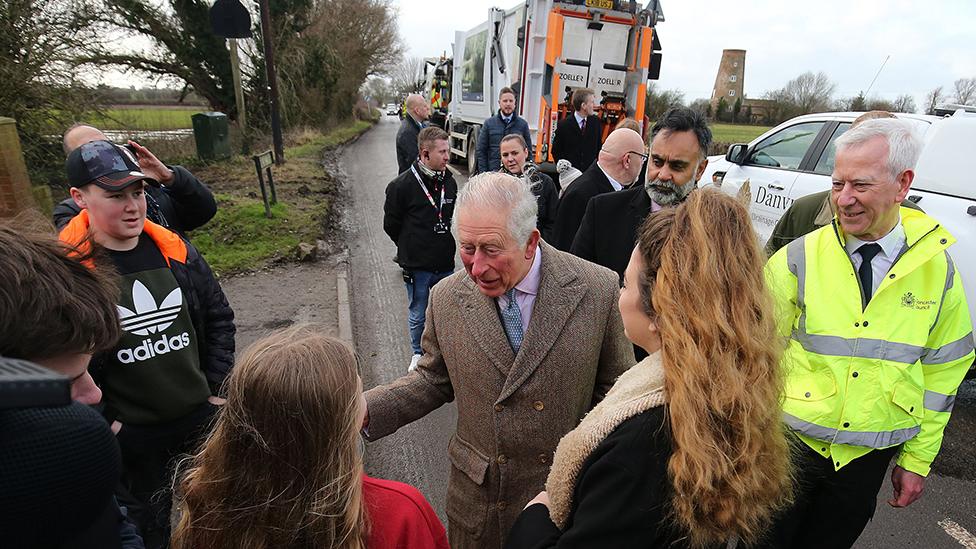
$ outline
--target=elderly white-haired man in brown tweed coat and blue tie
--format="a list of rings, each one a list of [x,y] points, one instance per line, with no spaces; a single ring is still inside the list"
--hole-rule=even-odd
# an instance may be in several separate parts
[[[468,181],[453,220],[466,272],[431,290],[418,368],[366,393],[369,440],[457,399],[455,549],[502,545],[545,484],[559,439],[634,361],[617,275],[541,241],[535,216],[518,179]]]

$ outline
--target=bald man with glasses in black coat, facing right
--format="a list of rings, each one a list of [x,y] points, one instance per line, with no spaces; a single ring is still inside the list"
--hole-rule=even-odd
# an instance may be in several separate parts
[[[553,228],[553,244],[560,250],[569,251],[586,211],[586,204],[596,195],[619,191],[632,184],[640,173],[645,156],[644,140],[639,133],[627,128],[614,130],[600,149],[597,161],[583,172],[559,200],[559,211],[556,213],[556,224]],[[630,257],[630,250],[627,257]]]

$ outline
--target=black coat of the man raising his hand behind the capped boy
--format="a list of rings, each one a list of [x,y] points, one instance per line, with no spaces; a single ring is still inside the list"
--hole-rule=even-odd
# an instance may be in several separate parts
[[[169,166],[173,170],[173,182],[167,187],[146,185],[146,194],[159,208],[147,207],[146,218],[157,225],[186,235],[203,226],[217,213],[217,201],[206,185],[183,166]],[[60,231],[78,215],[81,208],[74,199],[62,200],[54,207],[54,226]]]

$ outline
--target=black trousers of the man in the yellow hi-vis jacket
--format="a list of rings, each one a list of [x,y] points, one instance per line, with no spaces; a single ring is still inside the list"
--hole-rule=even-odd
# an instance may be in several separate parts
[[[762,547],[848,549],[874,516],[878,491],[899,446],[873,450],[834,470],[830,458],[794,439],[795,502]]]

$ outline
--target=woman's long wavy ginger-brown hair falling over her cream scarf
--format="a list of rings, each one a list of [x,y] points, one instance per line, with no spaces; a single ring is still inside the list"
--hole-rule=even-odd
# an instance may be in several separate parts
[[[792,483],[782,347],[749,214],[699,190],[648,216],[638,249],[638,286],[662,341],[672,519],[692,546],[752,543]]]

